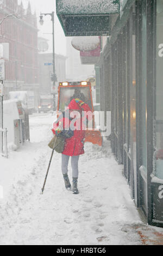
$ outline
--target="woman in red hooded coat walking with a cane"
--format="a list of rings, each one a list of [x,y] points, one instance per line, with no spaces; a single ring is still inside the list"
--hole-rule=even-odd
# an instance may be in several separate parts
[[[62,151],[61,169],[64,176],[65,187],[71,189],[70,180],[68,178],[68,161],[71,156],[72,191],[74,194],[78,194],[78,161],[79,156],[84,154],[85,121],[86,119],[90,120],[92,118],[92,115],[88,113],[92,113],[92,111],[84,101],[77,98],[71,100],[67,111],[69,112],[68,117],[67,113],[65,113],[58,123],[53,124],[52,131],[54,134],[61,132],[62,129],[59,128],[59,125],[61,125],[64,130],[69,129],[69,127],[70,130],[73,130],[73,136],[65,140],[64,151]],[[82,115],[82,113],[84,114]],[[86,113],[88,114],[86,115]]]

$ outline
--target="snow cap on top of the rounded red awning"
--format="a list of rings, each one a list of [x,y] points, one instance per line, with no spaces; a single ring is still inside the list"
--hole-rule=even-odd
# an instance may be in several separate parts
[[[98,36],[76,36],[72,39],[72,46],[78,51],[92,51],[99,45]]]

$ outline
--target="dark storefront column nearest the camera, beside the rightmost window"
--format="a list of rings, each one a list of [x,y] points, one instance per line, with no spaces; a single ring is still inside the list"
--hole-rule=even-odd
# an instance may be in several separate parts
[[[150,44],[148,44],[150,42]],[[151,173],[153,171],[154,1],[147,1],[147,219],[152,222]]]

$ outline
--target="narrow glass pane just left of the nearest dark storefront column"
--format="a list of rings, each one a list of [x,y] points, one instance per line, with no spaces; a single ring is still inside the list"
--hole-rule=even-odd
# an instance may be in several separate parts
[[[147,194],[147,8],[146,1],[139,4],[139,179],[140,206],[148,211]]]

